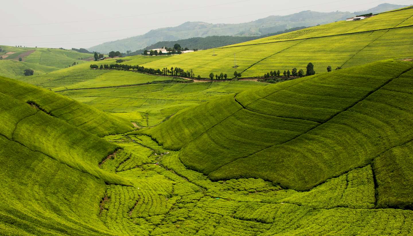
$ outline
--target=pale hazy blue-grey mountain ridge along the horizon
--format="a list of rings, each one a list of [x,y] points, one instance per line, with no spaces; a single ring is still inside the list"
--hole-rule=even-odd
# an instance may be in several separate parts
[[[388,3],[380,4],[377,7],[368,9],[367,13],[385,12],[392,9],[405,7],[403,5],[392,5]],[[313,12],[302,11],[286,16],[269,16],[263,19],[240,24],[210,24],[206,22],[185,22],[176,27],[159,28],[149,31],[144,35],[138,35],[121,40],[104,42],[88,48],[89,51],[110,52],[110,51],[136,51],[160,41],[175,41],[196,37],[207,36],[260,36],[268,33],[282,31],[287,28],[298,26],[315,26],[317,24],[327,24],[334,21],[341,21],[361,12]],[[364,14],[364,12],[362,12]]]

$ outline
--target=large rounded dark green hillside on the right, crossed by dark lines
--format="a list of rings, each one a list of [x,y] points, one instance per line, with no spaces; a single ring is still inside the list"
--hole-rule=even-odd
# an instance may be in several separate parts
[[[182,111],[147,134],[166,148],[183,147],[183,163],[213,179],[259,177],[309,189],[411,139],[403,104],[413,98],[391,90],[401,81],[410,86],[411,74],[399,76],[412,67],[380,61],[242,92]],[[395,122],[394,114],[404,118]]]

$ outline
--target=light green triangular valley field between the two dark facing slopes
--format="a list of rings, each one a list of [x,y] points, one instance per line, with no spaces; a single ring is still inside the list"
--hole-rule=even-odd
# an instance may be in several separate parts
[[[127,71],[112,71],[111,73],[137,76],[142,83],[145,83],[147,79],[157,79],[157,76],[147,76]],[[104,75],[107,75],[107,73]],[[165,79],[165,77],[163,78]],[[161,123],[182,109],[196,106],[204,101],[266,85],[254,81],[151,84],[133,87],[69,90],[61,92],[61,94],[101,111],[127,118],[139,126],[150,127]]]

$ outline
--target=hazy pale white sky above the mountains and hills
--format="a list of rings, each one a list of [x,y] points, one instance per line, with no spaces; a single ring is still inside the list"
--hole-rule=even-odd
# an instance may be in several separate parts
[[[242,23],[304,10],[361,11],[413,0],[2,0],[0,45],[88,48],[186,21]]]

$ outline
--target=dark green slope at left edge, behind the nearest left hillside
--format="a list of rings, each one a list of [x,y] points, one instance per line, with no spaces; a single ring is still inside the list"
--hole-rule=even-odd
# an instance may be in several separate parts
[[[1,93],[24,103],[33,101],[52,116],[97,136],[132,130],[132,124],[124,118],[111,116],[43,88],[5,77],[0,77],[0,84]]]

